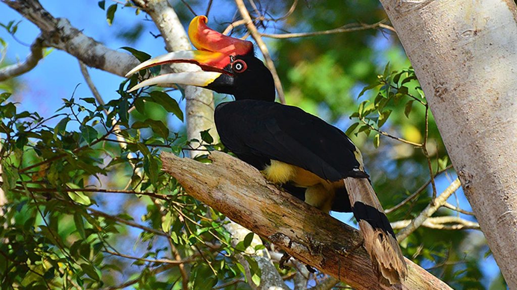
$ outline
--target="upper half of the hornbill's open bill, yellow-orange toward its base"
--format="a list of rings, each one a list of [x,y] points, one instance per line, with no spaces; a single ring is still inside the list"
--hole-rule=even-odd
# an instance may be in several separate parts
[[[168,54],[160,55],[155,58],[148,59],[140,65],[134,67],[130,70],[126,77],[138,72],[139,70],[143,70],[149,67],[154,67],[157,65],[161,65],[162,63],[170,63],[170,62],[181,62],[181,61],[193,61],[197,63],[204,63],[209,61],[210,59],[219,59],[224,57],[224,54],[219,52],[208,52],[208,51],[177,51],[171,52]]]

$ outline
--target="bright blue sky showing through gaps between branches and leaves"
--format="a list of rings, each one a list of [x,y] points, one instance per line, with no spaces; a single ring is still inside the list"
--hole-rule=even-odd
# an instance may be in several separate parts
[[[73,4],[71,4],[73,3]],[[114,2],[113,2],[114,3]],[[96,40],[104,43],[111,49],[119,49],[122,46],[132,46],[135,49],[145,51],[150,55],[156,56],[165,53],[163,41],[161,38],[153,37],[149,31],[158,34],[158,30],[154,25],[145,20],[144,13],[138,16],[134,15],[134,9],[118,7],[115,20],[112,26],[109,26],[105,21],[105,11],[97,6],[97,1],[75,0],[73,2],[63,1],[41,1],[41,4],[54,17],[66,17],[71,24],[87,36],[91,36]],[[112,2],[107,1],[107,7]],[[233,8],[232,8],[233,9]],[[225,7],[214,7],[211,11],[211,16],[216,15],[218,19],[224,19],[223,15],[231,18],[233,10],[225,9]],[[10,20],[22,20],[19,25],[17,39],[14,40],[4,29],[0,29],[0,38],[9,43],[7,47],[6,59],[9,62],[25,59],[29,53],[29,47],[26,44],[31,44],[36,36],[39,34],[38,28],[31,22],[24,20],[16,11],[10,9],[7,5],[0,3],[0,14],[2,18],[0,22],[6,24]],[[115,37],[117,31],[131,27],[135,22],[141,22],[145,25],[143,36],[135,43],[129,44],[124,40]],[[378,45],[382,44],[383,40],[379,40]],[[374,45],[376,45],[374,43]],[[382,46],[382,45],[381,45]],[[383,65],[384,66],[384,65]],[[115,90],[118,89],[119,83],[124,78],[103,72],[97,69],[89,69],[93,82],[96,84],[100,94],[105,101],[117,98]],[[15,92],[13,98],[16,98],[21,103],[19,110],[38,110],[41,116],[51,116],[55,110],[62,106],[62,99],[69,99],[74,88],[78,85],[75,96],[78,98],[86,98],[92,96],[89,88],[85,84],[84,78],[80,72],[77,59],[68,55],[65,52],[54,50],[47,57],[40,61],[38,66],[21,77],[21,82],[24,88]],[[176,100],[180,101],[178,94],[173,95]],[[184,107],[184,101],[180,101],[180,106]],[[170,119],[172,125],[180,126],[181,124],[175,118]],[[454,179],[455,176],[450,176]],[[438,192],[445,189],[450,183],[450,179],[440,177],[437,180]],[[470,210],[470,206],[466,201],[463,191],[460,189],[457,192],[459,204],[465,210]],[[116,203],[115,198],[115,202]],[[449,200],[451,204],[457,204],[455,196]],[[113,208],[115,210],[115,208]],[[136,211],[133,213],[135,220],[140,220],[139,215],[142,213]],[[337,218],[348,221],[350,215],[336,214]],[[466,219],[472,219],[470,216],[460,215]],[[135,232],[138,234],[138,232]],[[131,248],[131,247],[129,247]],[[492,257],[485,261],[481,261],[482,270],[490,277],[489,280],[498,273],[495,262]],[[489,281],[485,281],[488,285]]]

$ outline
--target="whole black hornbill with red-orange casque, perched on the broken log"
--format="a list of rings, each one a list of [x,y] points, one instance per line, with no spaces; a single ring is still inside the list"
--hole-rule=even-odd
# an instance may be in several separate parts
[[[174,62],[194,63],[201,71],[158,75],[129,91],[172,83],[234,95],[235,101],[215,109],[224,146],[270,182],[320,210],[353,212],[381,282],[395,284],[404,279],[404,257],[354,143],[320,118],[298,107],[275,103],[271,72],[254,56],[253,44],[222,35],[206,23],[205,16],[190,23],[189,38],[196,51],[149,59],[127,76]],[[351,187],[361,190],[347,194],[358,192]]]

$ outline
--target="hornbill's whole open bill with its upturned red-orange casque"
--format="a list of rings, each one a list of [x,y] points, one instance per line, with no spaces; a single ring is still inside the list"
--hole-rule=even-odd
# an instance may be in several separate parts
[[[225,36],[209,28],[206,16],[197,16],[190,22],[189,38],[197,51],[178,51],[164,54],[142,62],[126,74],[126,77],[142,69],[164,65],[167,63],[194,63],[202,71],[181,72],[159,75],[144,80],[132,87],[136,89],[165,83],[191,85],[197,87],[231,87],[233,72],[231,62],[236,55],[246,55],[253,51],[249,41]]]

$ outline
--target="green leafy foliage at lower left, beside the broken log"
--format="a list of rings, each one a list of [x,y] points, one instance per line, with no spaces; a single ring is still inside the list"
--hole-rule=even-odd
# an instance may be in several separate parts
[[[188,267],[194,288],[211,288],[241,275],[231,256],[238,250],[222,227],[224,216],[185,195],[161,171],[159,153],[180,154],[190,141],[171,133],[166,119],[151,119],[145,107],[155,104],[180,119],[183,112],[165,92],[127,94],[125,89],[135,81],[123,82],[119,98],[103,106],[72,95],[50,117],[20,112],[9,93],[0,95],[2,188],[9,200],[0,217],[6,226],[0,228],[0,238],[9,241],[0,247],[6,258],[0,265],[2,288],[102,288],[113,279],[105,276],[123,273],[131,263],[143,268],[133,277],[135,285],[163,287],[155,275],[166,265],[160,259],[168,251],[185,259],[199,255]],[[211,148],[220,148],[207,131],[202,138]],[[114,183],[117,176],[122,180]],[[96,210],[105,202],[102,192],[133,194],[148,204],[144,230],[135,241],[146,250],[130,264],[120,256],[127,250],[116,240],[137,223],[123,208],[119,215]],[[221,245],[217,250],[208,246],[216,243]],[[260,275],[252,261],[252,272]],[[180,277],[177,270],[168,275]]]

